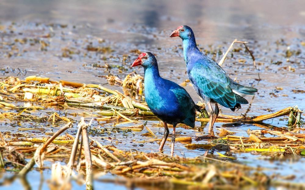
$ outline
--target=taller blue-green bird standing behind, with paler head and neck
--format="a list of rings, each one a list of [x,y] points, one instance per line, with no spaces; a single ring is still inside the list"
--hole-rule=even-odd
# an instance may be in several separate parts
[[[209,106],[209,133],[210,136],[214,136],[213,125],[219,114],[218,104],[230,108],[234,112],[235,108],[241,108],[241,104],[249,103],[242,96],[253,95],[257,89],[236,83],[214,60],[200,52],[190,27],[179,26],[170,35],[170,37],[175,36],[179,36],[183,42],[183,55],[188,78],[197,94]],[[211,103],[215,104],[215,111]]]

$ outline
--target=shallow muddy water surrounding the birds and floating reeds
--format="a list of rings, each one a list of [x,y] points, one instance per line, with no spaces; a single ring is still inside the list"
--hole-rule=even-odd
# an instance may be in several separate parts
[[[265,1],[86,3],[1,1],[0,69],[4,76],[24,78],[29,75],[41,75],[54,80],[102,84],[120,90],[118,86],[109,86],[101,76],[111,73],[124,78],[132,71],[143,74],[142,68],[130,67],[137,57],[137,54],[131,50],[138,49],[156,54],[161,76],[181,84],[187,79],[182,42],[179,38],[168,36],[172,30],[183,24],[192,27],[199,47],[216,61],[221,59],[222,54],[235,38],[249,42],[248,46],[256,58],[257,69],[253,67],[250,55],[245,52],[241,44],[234,46],[234,50],[228,54],[228,59],[223,64],[224,70],[231,78],[236,78],[243,85],[253,85],[259,89],[257,95],[247,98],[251,103],[250,111],[247,112],[249,116],[267,114],[293,105],[298,105],[304,110],[304,94],[293,92],[293,90],[304,90],[305,85],[304,7],[305,2],[301,0],[267,3]],[[90,47],[99,47],[99,52],[88,51]],[[123,55],[127,60],[123,61]],[[107,68],[103,68],[105,64],[108,65]],[[195,102],[200,100],[192,86],[187,84],[185,88]],[[241,115],[246,113],[247,108],[247,105],[243,106],[234,113],[221,108],[221,112]],[[54,110],[46,110],[45,114],[50,111]],[[69,110],[80,113],[83,111]],[[78,120],[79,117],[73,119]],[[286,119],[271,119],[265,123],[285,127]],[[163,129],[157,127],[156,123],[159,122],[148,121],[147,125],[161,137]],[[216,123],[215,131],[222,124]],[[23,122],[22,125],[33,127],[27,122]],[[105,133],[100,133],[96,128],[111,129],[114,125],[116,123],[104,125],[94,123],[92,126],[94,138],[102,144],[109,144],[109,141],[102,138]],[[178,136],[195,137],[207,132],[205,126],[206,123],[196,122],[196,128],[193,130],[178,127],[176,131]],[[45,128],[44,132],[35,134],[38,136],[44,136],[45,132],[55,131],[58,128],[51,124],[38,127]],[[18,131],[18,127],[12,127],[4,122],[1,129]],[[261,128],[250,124],[229,128],[239,136],[248,136],[246,133],[248,129]],[[74,132],[75,130],[72,129],[69,133]],[[141,142],[149,139],[141,135],[145,132],[145,129],[142,132],[128,133],[112,131],[109,136],[113,141],[120,142],[114,143],[120,149],[145,152],[157,150],[157,143]],[[165,149],[165,153],[168,154],[169,144]],[[176,143],[175,154],[196,157],[206,151],[187,150],[183,144]],[[208,154],[215,153],[209,151]],[[231,156],[236,157],[236,161],[240,163],[270,168],[267,171],[269,174],[297,174],[294,181],[298,182],[305,178],[304,158],[271,161],[268,156],[250,153]],[[50,171],[44,172],[44,180],[48,179],[49,174]],[[40,174],[33,171],[30,176],[39,178]],[[106,177],[112,178],[112,176]],[[43,184],[42,189],[46,189],[47,185]],[[35,189],[39,186],[39,181],[31,181],[30,185]],[[5,188],[20,186],[20,182],[15,181]],[[75,188],[83,187],[75,185]],[[125,189],[123,186],[112,185],[109,188]]]

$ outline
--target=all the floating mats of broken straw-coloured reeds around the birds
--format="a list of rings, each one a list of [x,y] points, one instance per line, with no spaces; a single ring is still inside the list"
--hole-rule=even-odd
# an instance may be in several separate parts
[[[117,81],[121,81],[118,80]],[[141,83],[139,85],[139,83]],[[0,119],[16,121],[32,121],[37,124],[49,123],[56,126],[59,123],[66,123],[51,137],[32,137],[26,131],[41,131],[41,128],[20,127],[15,134],[4,132],[1,137],[1,159],[0,165],[6,170],[14,168],[17,176],[26,175],[27,172],[37,165],[43,168],[44,160],[51,160],[52,177],[50,185],[54,188],[70,187],[71,179],[78,183],[85,183],[87,189],[92,189],[92,180],[101,174],[111,173],[117,176],[124,176],[120,183],[133,183],[141,185],[157,184],[160,187],[173,185],[174,187],[185,186],[188,188],[216,188],[216,189],[238,189],[245,186],[284,185],[289,187],[304,187],[304,184],[289,183],[282,181],[285,176],[267,175],[267,168],[253,168],[244,164],[228,161],[236,159],[230,153],[252,152],[256,154],[270,154],[273,157],[282,158],[288,155],[303,156],[305,153],[305,134],[301,133],[304,123],[301,120],[302,111],[294,107],[288,107],[278,112],[262,116],[229,116],[219,115],[217,121],[229,122],[219,129],[217,139],[210,143],[201,144],[192,142],[191,136],[176,137],[176,141],[185,144],[187,149],[206,149],[216,151],[217,156],[170,157],[162,152],[144,153],[135,150],[120,150],[116,146],[102,145],[90,136],[92,129],[88,130],[90,124],[84,122],[84,118],[78,125],[75,135],[67,132],[75,122],[66,113],[66,116],[57,112],[47,112],[46,115],[38,116],[39,110],[50,107],[67,109],[68,107],[88,107],[99,109],[92,113],[83,112],[83,116],[90,116],[97,122],[119,121],[111,131],[132,131],[141,132],[144,125],[137,117],[154,117],[149,108],[142,102],[143,88],[142,78],[135,73],[119,83],[127,88],[124,94],[117,90],[111,90],[101,85],[80,84],[69,81],[53,81],[49,78],[29,76],[25,80],[16,77],[0,79],[1,113]],[[133,98],[131,98],[133,97]],[[138,100],[136,100],[137,98]],[[205,110],[204,104],[199,105]],[[205,111],[206,112],[206,111]],[[208,114],[196,119],[197,121],[208,121]],[[266,119],[280,116],[288,116],[290,126],[299,126],[294,130],[281,127],[269,127],[262,123]],[[78,121],[77,121],[78,122]],[[119,123],[130,122],[136,125],[118,127]],[[234,122],[234,123],[231,123]],[[236,136],[227,127],[240,125],[240,123],[253,123],[261,130],[248,130],[249,136]],[[161,124],[160,124],[161,126]],[[171,125],[168,125],[172,127]],[[139,146],[143,143],[159,142],[156,134],[145,126],[149,133],[145,133],[147,140],[135,141]],[[96,129],[97,130],[97,129]],[[103,128],[101,133],[107,132]],[[264,136],[270,134],[272,136]],[[107,137],[105,137],[107,138]],[[196,136],[195,140],[203,140],[208,136]],[[108,139],[110,142],[114,142]],[[170,138],[168,139],[170,140]],[[80,143],[80,146],[78,146]],[[118,143],[118,142],[117,142]],[[81,147],[82,145],[82,147]],[[225,151],[226,153],[221,153]],[[80,159],[76,159],[77,157]],[[27,159],[30,159],[28,162]],[[66,165],[59,164],[59,159],[65,161]],[[74,169],[79,175],[86,173],[86,178],[76,177]],[[94,169],[94,170],[93,170]],[[104,182],[113,179],[99,179]],[[141,181],[141,182],[140,182]]]

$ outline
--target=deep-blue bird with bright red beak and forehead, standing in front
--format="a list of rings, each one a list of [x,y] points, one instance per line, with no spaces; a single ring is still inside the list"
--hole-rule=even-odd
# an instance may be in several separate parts
[[[160,77],[156,57],[150,53],[142,53],[131,67],[144,67],[144,92],[149,109],[164,123],[164,136],[159,150],[163,150],[169,130],[167,123],[173,125],[171,138],[171,156],[174,154],[175,129],[178,123],[195,127],[196,110],[199,106],[191,96],[178,84]]]

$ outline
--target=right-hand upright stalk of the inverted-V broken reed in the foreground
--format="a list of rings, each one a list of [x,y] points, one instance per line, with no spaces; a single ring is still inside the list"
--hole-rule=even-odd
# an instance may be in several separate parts
[[[93,175],[92,175],[92,160],[90,153],[90,145],[89,145],[89,136],[88,136],[88,124],[85,123],[84,117],[81,118],[81,122],[79,126],[82,128],[82,139],[83,139],[83,147],[84,147],[84,155],[86,162],[86,190],[93,189]]]

